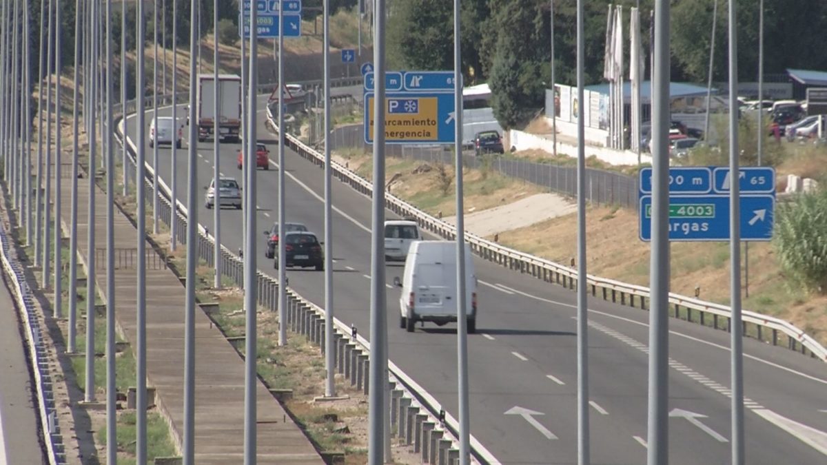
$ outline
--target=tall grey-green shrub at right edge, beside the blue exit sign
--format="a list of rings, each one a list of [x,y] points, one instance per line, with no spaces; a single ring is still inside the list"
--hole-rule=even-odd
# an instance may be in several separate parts
[[[827,189],[779,204],[774,242],[786,276],[804,290],[827,290]]]

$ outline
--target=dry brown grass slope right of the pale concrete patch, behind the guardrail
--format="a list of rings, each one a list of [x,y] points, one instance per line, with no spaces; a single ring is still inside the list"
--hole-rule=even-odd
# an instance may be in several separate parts
[[[500,233],[500,243],[568,264],[576,256],[576,217],[568,215]],[[649,244],[638,238],[638,215],[628,209],[590,208],[586,214],[590,274],[649,285]],[[672,291],[729,304],[729,244],[673,242]],[[742,252],[743,256],[743,252]],[[743,264],[742,264],[743,272]],[[786,319],[827,342],[827,296],[791,290],[771,243],[749,245],[749,297],[743,308]]]

